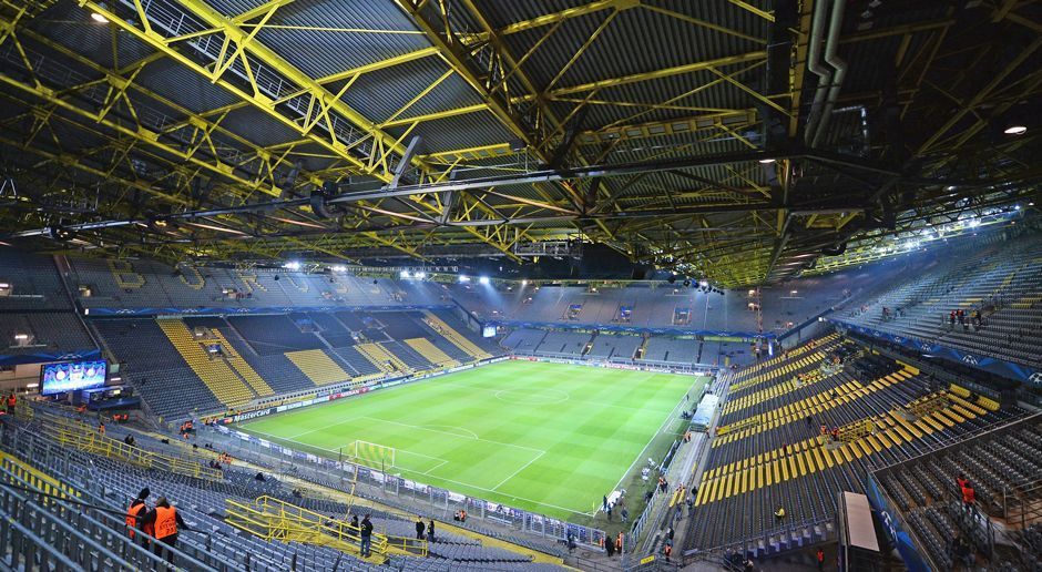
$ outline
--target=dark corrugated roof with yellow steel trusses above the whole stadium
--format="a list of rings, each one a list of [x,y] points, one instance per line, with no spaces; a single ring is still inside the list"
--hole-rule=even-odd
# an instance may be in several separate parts
[[[0,211],[0,241],[53,249],[43,197],[75,181],[100,206],[73,225],[221,210],[243,233],[83,228],[100,256],[578,237],[745,286],[1030,211],[1038,2],[818,1],[817,24],[810,0],[3,4],[0,170],[39,208]],[[285,223],[327,183],[327,227]]]

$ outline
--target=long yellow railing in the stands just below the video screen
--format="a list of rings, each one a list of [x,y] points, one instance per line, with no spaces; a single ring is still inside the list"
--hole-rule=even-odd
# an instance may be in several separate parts
[[[61,420],[54,417],[43,423],[43,432],[58,443],[116,459],[145,469],[156,469],[206,480],[222,480],[224,476],[217,469],[203,466],[201,462],[187,461],[176,457],[168,457],[156,452],[133,447],[123,441],[105,437],[98,429],[86,423]]]

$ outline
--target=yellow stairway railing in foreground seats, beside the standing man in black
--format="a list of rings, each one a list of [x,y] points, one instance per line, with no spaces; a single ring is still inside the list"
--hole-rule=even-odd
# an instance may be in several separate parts
[[[361,529],[272,497],[259,497],[252,503],[225,501],[225,522],[264,540],[308,542],[358,555]],[[387,554],[427,555],[427,541],[408,537],[371,537],[371,553],[381,559]]]

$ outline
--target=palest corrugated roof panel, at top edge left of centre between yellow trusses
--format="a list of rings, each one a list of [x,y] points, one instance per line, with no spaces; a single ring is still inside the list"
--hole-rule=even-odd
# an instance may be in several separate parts
[[[394,2],[299,0],[269,22],[283,27],[386,30],[385,33],[265,28],[257,40],[314,79],[428,48],[427,37]]]

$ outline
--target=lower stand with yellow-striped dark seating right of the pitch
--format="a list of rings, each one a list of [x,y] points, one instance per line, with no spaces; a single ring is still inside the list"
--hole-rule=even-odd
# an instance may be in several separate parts
[[[871,469],[1021,416],[835,334],[811,340],[734,376],[687,548],[763,556],[813,544],[832,533],[836,494],[864,491]]]

